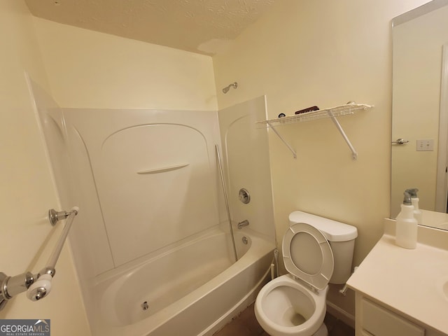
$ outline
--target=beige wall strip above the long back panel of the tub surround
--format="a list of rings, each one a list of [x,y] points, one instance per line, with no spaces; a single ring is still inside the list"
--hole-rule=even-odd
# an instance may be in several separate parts
[[[217,109],[211,57],[34,20],[59,106]]]

